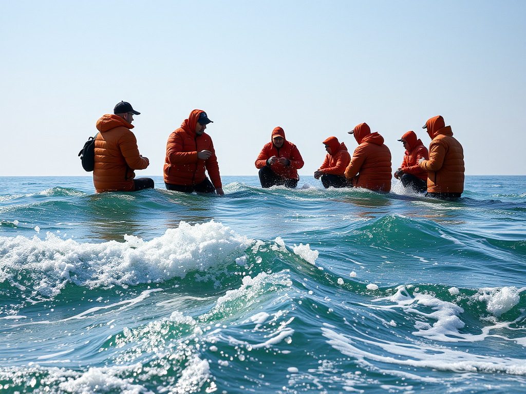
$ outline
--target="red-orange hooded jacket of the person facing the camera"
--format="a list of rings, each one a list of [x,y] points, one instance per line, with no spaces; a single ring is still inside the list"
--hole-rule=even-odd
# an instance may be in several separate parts
[[[280,136],[284,138],[284,143],[281,148],[276,148],[272,142],[274,136]],[[305,164],[301,154],[299,153],[296,145],[287,141],[285,138],[285,131],[281,127],[276,127],[272,130],[270,135],[270,142],[266,143],[261,152],[259,152],[258,158],[256,159],[256,168],[263,168],[267,165],[267,160],[272,156],[279,158],[285,158],[290,161],[289,165],[282,165],[278,162],[272,164],[270,169],[282,178],[287,179],[299,179],[298,171]]]

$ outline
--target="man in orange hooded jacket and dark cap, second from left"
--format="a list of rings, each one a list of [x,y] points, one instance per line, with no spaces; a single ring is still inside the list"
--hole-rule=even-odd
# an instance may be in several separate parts
[[[205,111],[194,109],[181,127],[168,137],[164,164],[166,189],[224,194],[214,144],[205,133],[209,123],[213,122]]]

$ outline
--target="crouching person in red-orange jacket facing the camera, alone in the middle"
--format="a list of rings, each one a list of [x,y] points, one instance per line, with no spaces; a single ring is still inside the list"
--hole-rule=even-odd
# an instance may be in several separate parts
[[[272,130],[270,139],[259,152],[255,163],[259,169],[261,187],[285,185],[286,188],[295,188],[299,181],[297,170],[304,165],[298,148],[285,139],[285,131],[281,127]]]

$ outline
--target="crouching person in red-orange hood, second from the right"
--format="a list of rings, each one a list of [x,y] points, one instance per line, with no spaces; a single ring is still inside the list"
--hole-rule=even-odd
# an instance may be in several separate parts
[[[402,165],[395,172],[395,178],[402,181],[404,188],[411,188],[417,192],[427,191],[427,171],[418,165],[420,159],[429,160],[429,153],[421,140],[417,139],[414,131],[403,134],[401,141],[406,148]]]

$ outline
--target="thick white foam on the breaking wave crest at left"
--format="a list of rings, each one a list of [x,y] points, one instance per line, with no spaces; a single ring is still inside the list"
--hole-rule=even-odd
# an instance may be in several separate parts
[[[151,241],[124,238],[122,243],[78,243],[50,232],[45,240],[0,237],[0,282],[16,286],[12,273],[25,272],[32,277],[32,296],[47,297],[60,293],[67,282],[92,288],[161,282],[194,269],[231,264],[254,244],[214,221],[194,226],[181,222]]]

